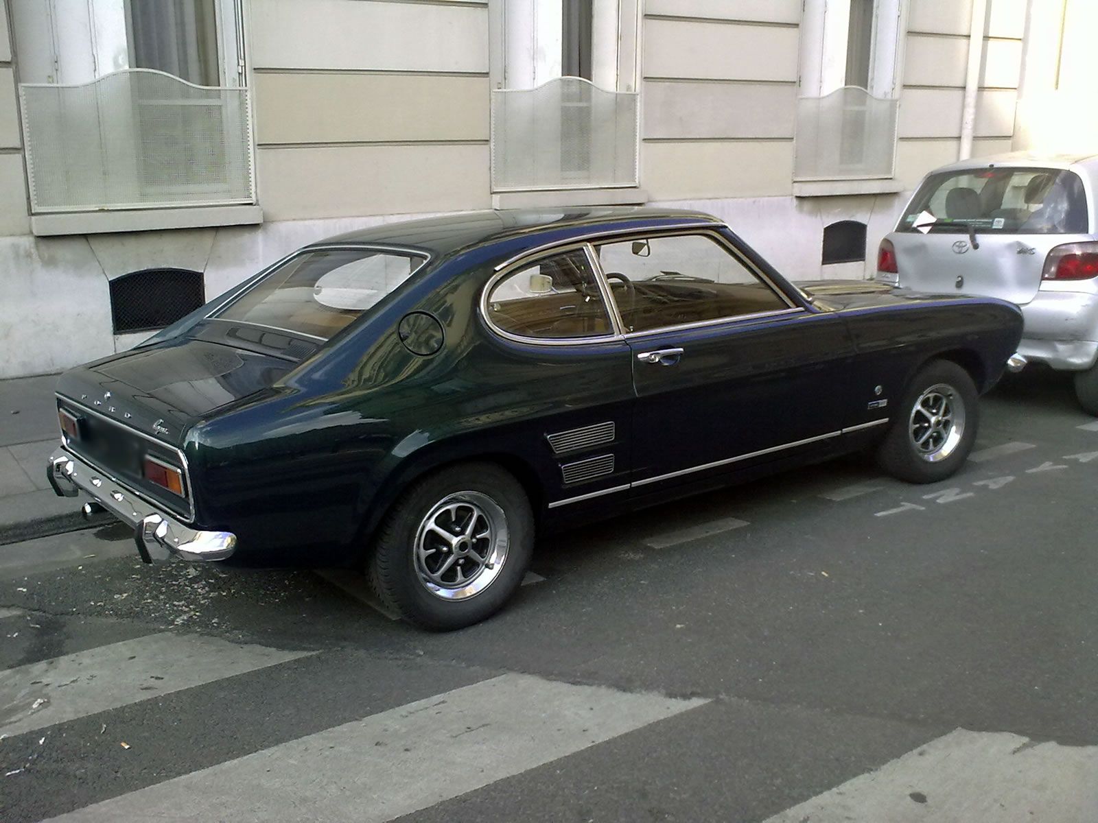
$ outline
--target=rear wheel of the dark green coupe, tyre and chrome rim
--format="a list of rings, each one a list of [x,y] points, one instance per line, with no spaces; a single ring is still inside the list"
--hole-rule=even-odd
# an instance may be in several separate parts
[[[448,537],[428,528],[428,521]],[[482,529],[489,537],[478,540],[473,532]],[[518,481],[493,463],[461,463],[424,477],[401,496],[378,529],[367,571],[378,597],[402,618],[451,631],[503,608],[533,553],[534,516]],[[493,554],[502,561],[479,562]],[[450,565],[444,570],[446,561]],[[455,579],[470,567],[463,582]]]

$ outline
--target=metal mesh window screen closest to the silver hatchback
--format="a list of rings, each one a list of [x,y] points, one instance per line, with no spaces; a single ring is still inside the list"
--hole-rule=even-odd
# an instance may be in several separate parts
[[[899,101],[848,86],[797,101],[795,180],[892,177]]]

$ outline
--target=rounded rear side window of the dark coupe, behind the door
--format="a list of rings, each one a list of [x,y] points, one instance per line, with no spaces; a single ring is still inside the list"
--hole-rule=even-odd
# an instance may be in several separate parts
[[[492,286],[488,318],[520,337],[544,339],[613,334],[598,281],[582,249],[545,258]]]

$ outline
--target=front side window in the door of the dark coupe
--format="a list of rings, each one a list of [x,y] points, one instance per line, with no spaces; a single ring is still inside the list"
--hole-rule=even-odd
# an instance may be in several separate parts
[[[739,258],[705,235],[607,243],[596,250],[627,332],[789,308]]]

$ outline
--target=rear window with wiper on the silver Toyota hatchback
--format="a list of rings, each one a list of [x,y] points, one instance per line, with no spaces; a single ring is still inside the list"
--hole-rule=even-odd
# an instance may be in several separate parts
[[[1062,169],[984,168],[931,174],[900,218],[900,230],[1086,234],[1083,181]]]

